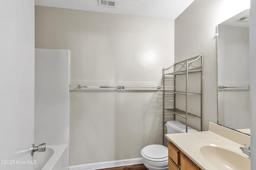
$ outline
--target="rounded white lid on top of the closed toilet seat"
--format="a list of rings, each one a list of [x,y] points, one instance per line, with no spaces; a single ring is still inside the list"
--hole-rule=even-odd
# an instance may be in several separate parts
[[[142,149],[142,153],[153,159],[162,159],[168,156],[168,150],[163,145],[148,145]]]

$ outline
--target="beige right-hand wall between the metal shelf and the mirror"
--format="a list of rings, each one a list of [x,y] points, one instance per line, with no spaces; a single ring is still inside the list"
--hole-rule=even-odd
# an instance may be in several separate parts
[[[203,130],[217,123],[216,26],[250,5],[248,0],[195,0],[175,20],[175,62],[204,53]],[[194,125],[193,125],[194,124]],[[199,121],[192,122],[198,126]]]

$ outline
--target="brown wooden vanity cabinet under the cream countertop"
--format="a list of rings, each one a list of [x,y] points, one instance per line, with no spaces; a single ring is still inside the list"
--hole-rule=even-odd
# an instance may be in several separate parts
[[[202,170],[168,140],[169,170]]]

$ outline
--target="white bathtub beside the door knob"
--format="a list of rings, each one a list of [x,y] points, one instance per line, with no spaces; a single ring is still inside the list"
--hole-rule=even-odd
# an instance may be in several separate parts
[[[47,146],[45,152],[35,152],[34,170],[68,170],[67,145]]]

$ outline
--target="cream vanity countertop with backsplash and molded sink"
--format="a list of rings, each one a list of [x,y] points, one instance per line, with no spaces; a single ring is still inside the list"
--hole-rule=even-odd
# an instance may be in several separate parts
[[[244,147],[244,144],[250,144],[250,136],[215,123],[209,122],[209,131],[166,134],[165,136],[203,170],[223,169],[222,161],[224,161],[223,164],[226,164],[226,158],[214,156],[214,154],[218,155],[216,150],[214,150],[216,148],[224,151],[223,153],[220,151],[221,156],[226,155],[226,157],[230,158],[229,154],[235,153],[236,158],[234,159],[245,160],[245,164],[249,162],[248,166],[250,166],[250,156],[244,154],[239,149]],[[215,162],[220,165],[216,165]],[[239,161],[236,162],[239,163]],[[225,167],[231,168],[228,165],[227,163]]]

